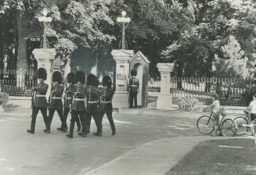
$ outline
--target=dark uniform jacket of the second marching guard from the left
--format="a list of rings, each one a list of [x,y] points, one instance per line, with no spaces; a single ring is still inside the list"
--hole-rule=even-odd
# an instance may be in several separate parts
[[[63,85],[57,84],[52,87],[51,95],[49,97],[49,108],[50,109],[63,109],[62,95],[64,87]]]

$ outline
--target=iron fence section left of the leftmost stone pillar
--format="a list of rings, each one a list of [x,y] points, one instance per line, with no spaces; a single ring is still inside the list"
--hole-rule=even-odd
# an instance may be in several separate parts
[[[0,91],[10,96],[31,96],[31,88],[37,84],[36,71],[0,70]]]

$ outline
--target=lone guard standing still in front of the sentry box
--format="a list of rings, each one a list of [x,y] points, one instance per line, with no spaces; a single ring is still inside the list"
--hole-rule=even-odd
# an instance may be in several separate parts
[[[139,79],[136,77],[137,70],[131,70],[131,75],[132,77],[129,80],[129,108],[132,108],[133,106],[133,99],[135,108],[137,108],[137,95],[139,93]]]

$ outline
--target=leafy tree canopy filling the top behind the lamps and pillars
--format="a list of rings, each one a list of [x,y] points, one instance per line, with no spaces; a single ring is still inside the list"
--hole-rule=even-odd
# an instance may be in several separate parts
[[[1,43],[14,45],[17,66],[27,64],[20,64],[26,40],[41,41],[42,9],[53,19],[46,32],[50,46],[64,61],[85,62],[88,71],[110,69],[110,52],[121,39],[116,19],[125,10],[132,19],[128,49],[150,59],[152,77],[157,62],[174,62],[178,76],[254,76],[255,0],[4,0]]]

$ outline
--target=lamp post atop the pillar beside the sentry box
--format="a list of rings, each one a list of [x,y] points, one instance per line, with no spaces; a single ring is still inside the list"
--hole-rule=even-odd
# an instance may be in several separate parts
[[[125,29],[128,27],[128,24],[131,22],[131,18],[125,17],[126,12],[123,11],[121,13],[121,17],[117,17],[117,23],[120,23],[120,26],[122,27],[122,39],[119,43],[119,48],[121,49],[127,49],[127,41],[125,40]]]

